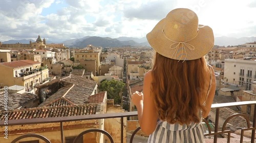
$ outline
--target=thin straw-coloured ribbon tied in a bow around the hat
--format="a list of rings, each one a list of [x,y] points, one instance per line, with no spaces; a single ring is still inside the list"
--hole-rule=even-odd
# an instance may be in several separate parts
[[[185,59],[184,59],[184,61],[185,61],[185,60],[187,59],[187,51],[186,51],[186,48],[188,48],[189,50],[195,50],[195,47],[194,47],[193,45],[188,44],[188,43],[186,43],[186,42],[188,42],[188,41],[190,41],[190,40],[193,40],[194,38],[197,37],[197,35],[196,35],[194,38],[189,39],[189,40],[187,40],[187,41],[174,41],[174,40],[169,39],[168,37],[166,37],[166,35],[165,35],[165,33],[164,33],[164,29],[162,30],[162,33],[163,33],[163,35],[164,35],[164,37],[165,37],[166,39],[168,39],[168,40],[171,41],[171,42],[174,42],[173,44],[170,44],[170,46],[169,46],[170,49],[175,49],[175,52],[173,53],[172,58],[173,58],[173,56],[174,56],[174,54],[175,54],[175,59],[176,59],[176,56],[177,56],[177,53],[178,53],[179,49],[182,48],[180,60],[181,60],[181,58],[182,58],[183,49],[184,49],[184,52],[185,52],[185,55],[186,55],[186,56],[185,56]],[[198,34],[198,32],[197,32],[197,34]],[[175,44],[177,44],[177,45],[176,45],[175,47],[172,47],[172,46],[175,45]],[[181,45],[181,47],[180,47],[180,45]],[[185,47],[186,47],[186,48],[185,48]],[[180,62],[180,60],[179,60],[178,62]],[[183,62],[184,62],[184,61],[183,61]],[[183,62],[182,62],[182,63],[183,63]]]

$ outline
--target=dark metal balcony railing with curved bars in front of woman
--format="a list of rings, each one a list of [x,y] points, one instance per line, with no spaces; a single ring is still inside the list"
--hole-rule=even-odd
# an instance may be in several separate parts
[[[242,106],[242,105],[254,105],[254,111],[253,111],[253,124],[252,127],[250,127],[250,123],[249,123],[249,117],[245,114],[242,113],[234,113],[232,116],[230,116],[229,118],[226,119],[226,121],[223,123],[223,127],[221,130],[218,129],[219,127],[219,116],[220,116],[220,108],[225,108],[225,107],[231,107],[231,106]],[[240,138],[240,142],[243,142],[243,135],[244,135],[244,131],[248,131],[248,130],[252,130],[251,133],[251,141],[250,142],[254,142],[255,140],[255,129],[256,129],[256,101],[243,101],[243,102],[231,102],[231,103],[221,103],[221,104],[212,104],[211,108],[216,109],[216,116],[215,116],[215,130],[214,132],[211,132],[211,128],[209,126],[209,123],[204,120],[204,122],[206,123],[207,127],[208,127],[208,131],[209,133],[204,134],[204,136],[209,136],[209,135],[214,135],[214,140],[213,142],[217,143],[218,142],[218,135],[220,134],[227,134],[227,142],[230,142],[230,134],[231,134],[231,130],[225,130],[226,129],[226,125],[227,122],[230,121],[232,118],[235,117],[243,117],[246,119],[247,122],[247,128],[242,128],[241,129],[241,138]],[[46,124],[46,123],[60,123],[60,136],[61,136],[61,143],[64,142],[64,132],[63,131],[63,122],[72,122],[72,121],[84,121],[84,120],[97,120],[97,119],[110,119],[110,118],[120,118],[121,122],[120,122],[120,126],[121,126],[121,131],[120,131],[120,136],[121,136],[121,143],[123,143],[123,127],[124,127],[124,123],[123,123],[123,119],[125,117],[133,117],[133,116],[137,116],[137,111],[132,111],[132,112],[120,112],[120,113],[105,113],[105,114],[96,114],[96,115],[84,115],[84,116],[72,116],[72,117],[57,117],[57,118],[42,118],[42,119],[18,119],[18,120],[9,120],[8,121],[8,126],[15,126],[15,125],[28,125],[28,124]],[[4,121],[0,121],[0,126],[6,126],[4,124]],[[132,136],[131,136],[131,140],[130,143],[133,142],[133,138],[135,136],[135,134],[140,130],[140,128],[137,128]],[[77,140],[79,138],[81,138],[84,134],[87,134],[89,132],[100,132],[103,133],[104,135],[106,135],[107,137],[110,138],[110,141],[113,143],[113,138],[112,136],[101,129],[89,129],[86,131],[81,132],[73,141],[73,143],[77,142]],[[44,140],[47,143],[51,143],[51,141],[49,139],[47,139],[47,137],[39,135],[39,134],[24,134],[21,135],[13,140],[11,140],[11,143],[15,143],[20,139],[23,138],[27,138],[27,137],[36,137],[39,139]]]

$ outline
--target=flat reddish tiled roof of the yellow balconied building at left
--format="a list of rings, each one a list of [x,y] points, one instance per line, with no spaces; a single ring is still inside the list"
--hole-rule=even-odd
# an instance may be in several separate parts
[[[32,66],[34,64],[41,64],[41,63],[31,61],[31,60],[20,60],[20,61],[0,63],[0,65],[5,65],[5,66],[8,66],[8,67],[12,67],[12,68]]]

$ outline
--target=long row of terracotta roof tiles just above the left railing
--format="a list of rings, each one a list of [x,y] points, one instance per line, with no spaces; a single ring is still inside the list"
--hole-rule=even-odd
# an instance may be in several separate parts
[[[9,110],[8,120],[92,115],[98,111],[100,111],[100,105],[98,104],[82,104],[82,105],[15,109],[15,110]],[[1,110],[0,111],[1,121],[5,120],[4,115],[5,115],[5,112]]]

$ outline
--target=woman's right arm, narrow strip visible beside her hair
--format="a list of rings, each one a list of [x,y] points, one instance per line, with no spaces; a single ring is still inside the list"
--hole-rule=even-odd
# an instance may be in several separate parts
[[[215,79],[214,69],[212,67],[210,67],[210,71],[211,71],[211,88],[209,91],[208,98],[205,101],[206,111],[202,113],[203,118],[206,118],[210,112],[211,104],[214,101],[214,96],[215,96],[215,91],[216,91],[216,79]]]

